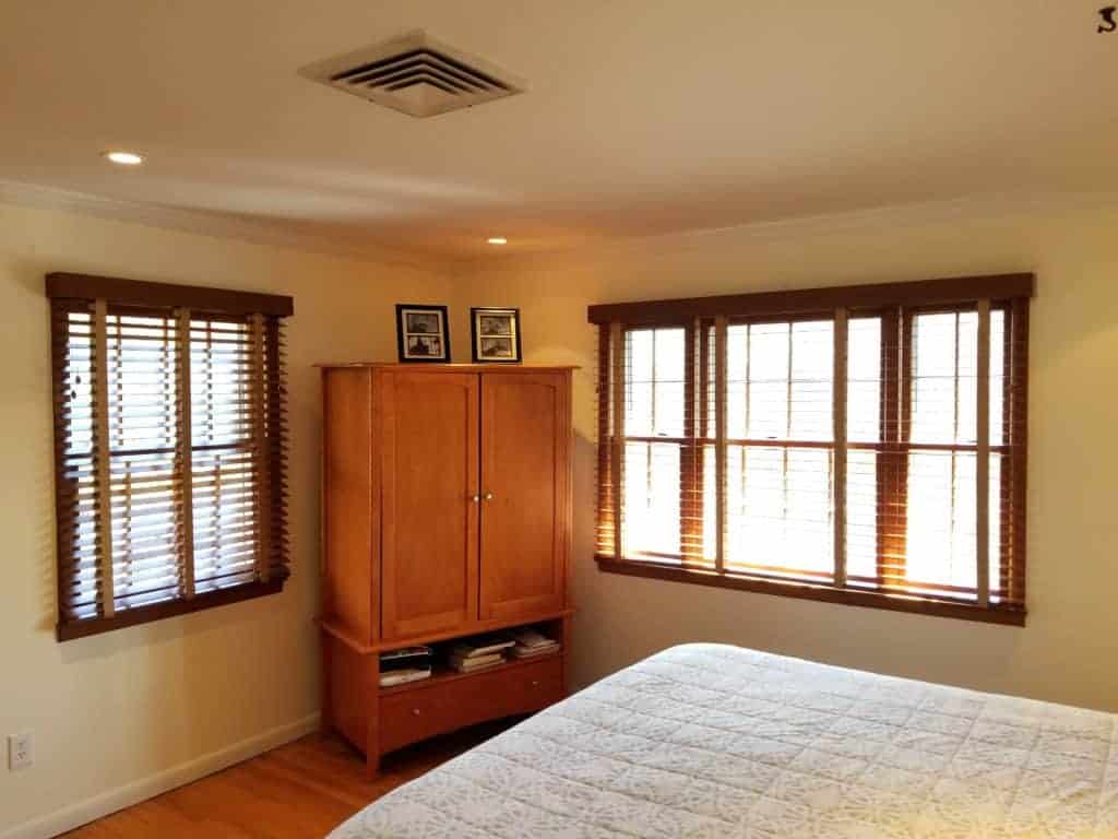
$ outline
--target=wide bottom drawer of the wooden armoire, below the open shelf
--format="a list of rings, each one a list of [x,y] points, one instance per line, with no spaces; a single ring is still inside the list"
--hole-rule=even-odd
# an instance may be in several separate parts
[[[380,752],[486,719],[528,714],[562,699],[562,661],[553,656],[461,678],[435,678],[380,699]]]

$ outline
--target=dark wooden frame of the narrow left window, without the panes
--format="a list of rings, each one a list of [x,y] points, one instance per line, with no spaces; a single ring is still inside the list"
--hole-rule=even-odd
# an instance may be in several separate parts
[[[86,274],[51,273],[46,276],[46,294],[51,302],[51,381],[55,414],[55,499],[57,525],[57,590],[58,621],[56,637],[58,641],[69,641],[88,635],[110,632],[125,626],[162,620],[180,614],[188,614],[207,609],[237,603],[255,597],[277,594],[283,591],[288,576],[287,569],[287,525],[286,525],[286,489],[285,489],[285,452],[286,452],[286,384],[283,369],[283,340],[280,319],[294,312],[294,301],[290,296],[259,294],[254,292],[229,291],[206,286],[176,285],[149,283],[119,277],[93,276]],[[98,585],[98,606],[91,618],[67,618],[64,604],[67,602],[67,588],[72,584],[72,565],[75,554],[68,547],[73,538],[73,490],[66,478],[65,446],[68,434],[66,416],[66,397],[64,396],[64,364],[66,342],[69,331],[67,318],[69,312],[91,311],[94,323],[94,352],[101,359],[105,357],[105,336],[98,333],[96,324],[103,323],[113,313],[127,315],[155,315],[176,321],[178,389],[174,405],[178,412],[178,450],[179,459],[188,466],[192,462],[193,447],[190,444],[190,376],[189,376],[189,332],[191,315],[199,318],[229,319],[244,322],[248,327],[254,359],[253,396],[256,407],[253,445],[258,454],[257,516],[259,538],[255,546],[255,578],[250,582],[214,587],[207,591],[193,591],[193,546],[192,546],[192,481],[183,481],[181,496],[176,501],[176,519],[182,532],[177,552],[181,555],[180,571],[184,577],[181,583],[181,596],[127,607],[114,606],[112,585]],[[100,348],[100,353],[98,353]],[[183,348],[187,348],[183,351]],[[98,362],[104,366],[103,362]],[[97,392],[95,402],[105,405],[107,390],[107,371],[94,370],[92,383]],[[106,422],[100,413],[94,412],[94,434],[98,449],[108,451]],[[267,425],[265,441],[264,426]],[[93,454],[94,468],[102,473],[102,481],[107,483],[107,455]],[[100,520],[108,519],[107,492],[98,492]],[[186,522],[184,525],[182,522]],[[102,526],[98,525],[98,531]],[[98,537],[100,538],[100,537]],[[98,549],[98,562],[102,575],[107,569],[112,577],[112,547],[102,541]],[[186,558],[186,557],[189,557]]]

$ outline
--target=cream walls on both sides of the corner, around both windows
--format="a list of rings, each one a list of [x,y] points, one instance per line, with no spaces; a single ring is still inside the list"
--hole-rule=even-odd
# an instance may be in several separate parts
[[[0,767],[0,837],[63,808],[318,711],[318,385],[322,359],[392,359],[392,305],[447,302],[456,360],[470,305],[519,305],[529,361],[576,379],[576,681],[672,643],[720,640],[1118,710],[1118,209],[940,207],[645,239],[609,251],[437,267],[350,261],[0,205],[0,734],[37,765]],[[53,637],[47,304],[51,270],[290,293],[294,576],[283,595],[66,644]],[[642,581],[593,555],[593,302],[1035,271],[1030,607],[1024,630]],[[191,763],[193,762],[193,763]],[[135,789],[135,788],[134,788]],[[16,826],[25,826],[17,828]]]

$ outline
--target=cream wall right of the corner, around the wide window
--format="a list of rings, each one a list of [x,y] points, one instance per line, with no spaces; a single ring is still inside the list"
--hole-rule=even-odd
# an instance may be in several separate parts
[[[588,303],[1034,271],[1025,629],[620,577],[593,555]],[[528,361],[575,362],[577,680],[669,644],[728,641],[1118,710],[1118,210],[967,204],[506,257],[458,272],[457,309],[519,305]],[[468,355],[465,324],[455,337]]]

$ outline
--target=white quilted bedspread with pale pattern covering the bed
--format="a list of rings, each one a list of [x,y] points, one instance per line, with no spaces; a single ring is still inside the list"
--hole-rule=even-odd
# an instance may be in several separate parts
[[[688,644],[332,835],[405,837],[1118,837],[1118,716]]]

